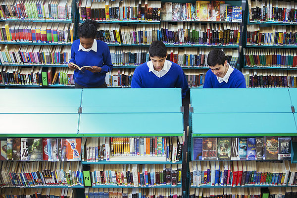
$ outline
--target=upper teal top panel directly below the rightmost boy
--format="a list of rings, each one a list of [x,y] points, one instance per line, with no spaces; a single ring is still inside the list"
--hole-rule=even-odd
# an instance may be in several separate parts
[[[288,89],[191,89],[194,113],[290,113]]]

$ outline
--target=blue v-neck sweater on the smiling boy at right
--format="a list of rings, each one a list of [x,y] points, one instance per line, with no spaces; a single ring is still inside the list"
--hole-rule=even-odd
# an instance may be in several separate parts
[[[230,77],[228,79],[228,83],[223,81],[222,83],[219,83],[219,81],[216,78],[216,75],[214,75],[209,69],[206,72],[205,80],[203,88],[247,88],[246,86],[246,79],[239,70],[235,69],[230,74]]]

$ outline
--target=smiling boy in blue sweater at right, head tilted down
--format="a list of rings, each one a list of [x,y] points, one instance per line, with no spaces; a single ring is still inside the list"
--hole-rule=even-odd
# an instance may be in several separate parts
[[[222,50],[211,50],[207,64],[210,69],[206,72],[203,88],[247,88],[243,73],[229,65]]]

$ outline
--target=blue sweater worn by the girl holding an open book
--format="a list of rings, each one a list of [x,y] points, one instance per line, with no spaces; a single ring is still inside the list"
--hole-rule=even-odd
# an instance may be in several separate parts
[[[74,70],[75,83],[84,87],[92,88],[103,85],[105,82],[105,75],[112,70],[111,56],[107,44],[102,41],[97,41],[97,52],[78,50],[80,41],[75,40],[71,47],[71,59],[80,67],[83,66],[98,66],[101,67],[100,72],[93,73],[88,70],[80,71]]]

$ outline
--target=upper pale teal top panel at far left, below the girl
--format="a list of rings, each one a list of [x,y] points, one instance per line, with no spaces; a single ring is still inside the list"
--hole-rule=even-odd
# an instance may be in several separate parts
[[[78,113],[81,89],[1,89],[0,113]]]

